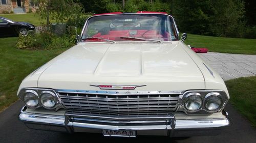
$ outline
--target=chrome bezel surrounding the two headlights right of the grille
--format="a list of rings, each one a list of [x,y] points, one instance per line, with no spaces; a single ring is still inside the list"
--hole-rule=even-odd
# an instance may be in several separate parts
[[[197,93],[198,95],[201,96],[202,100],[203,100],[203,105],[201,106],[200,109],[196,110],[196,111],[191,111],[188,110],[185,107],[185,100],[188,97],[188,95],[190,95],[191,93]],[[222,100],[221,106],[219,108],[217,108],[216,110],[208,110],[205,107],[205,103],[207,101],[207,98],[210,96],[217,96]],[[183,111],[185,112],[187,115],[210,115],[212,113],[215,112],[221,112],[223,110],[223,108],[225,107],[226,103],[228,101],[228,96],[227,94],[222,91],[222,90],[195,90],[195,91],[186,91],[182,94],[182,96],[180,97],[180,102],[179,102],[179,106],[177,108],[177,111]]]

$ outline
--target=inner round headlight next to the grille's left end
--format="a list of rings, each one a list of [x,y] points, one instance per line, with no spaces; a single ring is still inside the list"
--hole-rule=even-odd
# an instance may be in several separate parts
[[[55,94],[49,91],[44,91],[40,95],[40,101],[45,108],[52,108],[56,104]]]

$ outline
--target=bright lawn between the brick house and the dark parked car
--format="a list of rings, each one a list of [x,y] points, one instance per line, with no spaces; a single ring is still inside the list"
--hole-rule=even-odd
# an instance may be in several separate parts
[[[11,19],[13,21],[22,21],[22,22],[28,22],[35,26],[41,25],[41,22],[45,22],[39,19],[39,16],[35,13],[26,13],[26,14],[0,14],[0,17],[5,17],[8,19]]]

